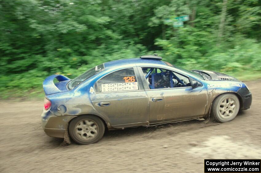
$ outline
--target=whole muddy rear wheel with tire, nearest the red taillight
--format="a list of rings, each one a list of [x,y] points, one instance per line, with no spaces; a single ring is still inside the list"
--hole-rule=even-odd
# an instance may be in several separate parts
[[[98,142],[103,137],[104,130],[105,127],[102,120],[95,115],[78,116],[73,118],[69,124],[69,134],[78,144]]]

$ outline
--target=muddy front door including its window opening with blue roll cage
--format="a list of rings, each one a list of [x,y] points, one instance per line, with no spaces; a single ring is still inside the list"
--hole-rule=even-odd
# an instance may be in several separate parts
[[[143,81],[150,103],[150,123],[205,115],[207,89],[192,88],[190,78],[166,69],[145,67]],[[148,89],[149,88],[149,89]]]

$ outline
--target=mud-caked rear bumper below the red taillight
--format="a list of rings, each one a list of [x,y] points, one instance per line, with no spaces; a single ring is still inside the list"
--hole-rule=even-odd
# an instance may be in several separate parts
[[[68,123],[74,117],[76,116],[56,116],[51,111],[43,110],[41,115],[43,130],[48,136],[64,138]]]

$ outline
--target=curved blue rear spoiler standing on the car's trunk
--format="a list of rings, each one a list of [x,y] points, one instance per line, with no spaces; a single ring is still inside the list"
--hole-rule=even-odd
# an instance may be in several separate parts
[[[56,78],[59,82],[70,80],[70,79],[69,79],[68,77],[66,77],[66,76],[56,75],[56,74],[47,77],[47,78],[44,80],[44,83],[43,83],[43,88],[44,88],[44,91],[45,91],[45,95],[49,95],[49,94],[54,94],[54,93],[57,93],[57,92],[61,92],[60,89],[57,88],[56,85],[55,85],[54,82],[53,82],[53,80],[54,80],[55,78]]]

